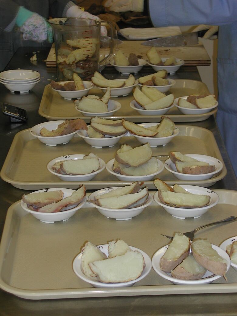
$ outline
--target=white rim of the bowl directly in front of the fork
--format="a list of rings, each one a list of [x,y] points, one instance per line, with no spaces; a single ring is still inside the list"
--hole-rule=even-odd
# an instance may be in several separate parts
[[[176,283],[179,283],[179,284],[186,284],[186,285],[188,285],[188,284],[205,284],[205,283],[211,283],[212,281],[214,281],[214,280],[216,280],[216,279],[218,279],[218,278],[220,278],[221,276],[219,276],[219,275],[216,275],[216,274],[213,274],[212,272],[210,272],[210,273],[212,273],[213,274],[213,276],[212,277],[205,277],[205,278],[201,278],[201,279],[197,279],[197,280],[183,280],[183,279],[178,279],[178,278],[175,278],[175,277],[173,277],[173,276],[171,276],[171,275],[169,275],[167,272],[164,272],[164,271],[162,271],[161,270],[161,268],[159,268],[159,269],[157,269],[156,267],[157,267],[157,264],[155,264],[156,262],[157,262],[157,259],[156,259],[156,256],[158,256],[158,255],[163,255],[165,252],[165,248],[167,248],[167,246],[168,245],[166,245],[166,246],[163,246],[163,247],[161,247],[160,249],[158,249],[155,253],[154,253],[154,255],[152,256],[152,259],[151,259],[151,263],[152,263],[152,267],[153,267],[153,269],[155,270],[155,272],[158,274],[158,275],[160,275],[161,277],[163,277],[164,279],[166,279],[166,280],[169,280],[169,281],[173,281],[173,282],[176,282]],[[221,248],[221,247],[219,247],[219,246],[216,246],[216,245],[214,245],[214,244],[211,244],[211,246],[212,246],[212,248],[213,249],[215,249],[216,251],[217,250],[219,250],[219,252],[221,252],[221,254],[222,254],[222,256],[224,256],[225,258],[224,259],[226,259],[226,261],[227,261],[227,271],[229,270],[229,268],[230,268],[230,259],[228,260],[228,254]],[[214,247],[213,247],[214,246]],[[161,252],[161,254],[159,254],[159,252]],[[190,252],[191,252],[191,248],[190,248]],[[218,251],[217,251],[218,252]],[[218,253],[219,253],[218,252]],[[224,253],[225,253],[225,255],[224,255]],[[227,256],[226,256],[227,255]],[[160,264],[159,264],[159,267],[160,267]],[[207,270],[208,271],[208,270]],[[211,282],[209,282],[211,280]]]

